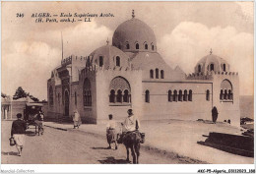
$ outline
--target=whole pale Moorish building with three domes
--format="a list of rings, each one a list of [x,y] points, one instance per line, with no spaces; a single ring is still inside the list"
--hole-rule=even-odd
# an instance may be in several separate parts
[[[239,79],[213,51],[186,75],[172,69],[157,49],[154,30],[135,18],[120,24],[112,44],[87,56],[70,56],[47,82],[48,119],[72,121],[78,109],[84,123],[98,123],[108,114],[123,121],[132,108],[141,120],[212,120],[239,125]]]

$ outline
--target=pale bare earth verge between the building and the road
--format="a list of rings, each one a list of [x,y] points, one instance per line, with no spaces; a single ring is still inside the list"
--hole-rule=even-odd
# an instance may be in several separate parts
[[[45,122],[45,125],[60,127],[73,131],[72,124],[56,124]],[[81,132],[105,136],[105,124],[84,124],[80,127]],[[181,120],[141,121],[141,132],[146,133],[146,143],[143,149],[160,151],[172,157],[206,161],[213,164],[252,164],[254,158],[231,154],[210,146],[199,145],[197,142],[205,141],[203,135],[210,132],[241,135],[240,128],[229,124]],[[159,152],[158,152],[159,153]],[[185,160],[186,161],[186,160]],[[184,162],[186,163],[186,162]],[[194,163],[194,162],[192,162]]]

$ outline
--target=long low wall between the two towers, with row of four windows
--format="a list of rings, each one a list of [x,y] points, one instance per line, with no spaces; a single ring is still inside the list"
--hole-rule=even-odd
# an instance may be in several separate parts
[[[145,92],[150,90],[150,102],[145,102]],[[168,90],[192,89],[192,101],[168,101]],[[210,100],[206,100],[206,90],[210,90]],[[187,94],[188,94],[187,93]],[[183,96],[183,95],[182,95]],[[154,82],[143,81],[142,106],[144,120],[180,119],[180,120],[212,120],[212,82]]]

